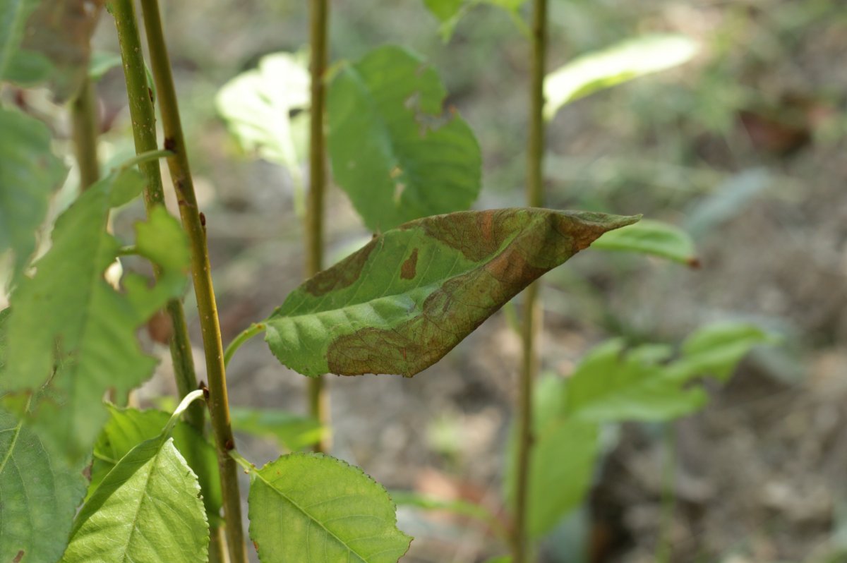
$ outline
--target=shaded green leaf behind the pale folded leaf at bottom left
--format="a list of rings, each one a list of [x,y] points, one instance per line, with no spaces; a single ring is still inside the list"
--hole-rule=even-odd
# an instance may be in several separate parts
[[[170,415],[164,411],[138,411],[109,405],[109,421],[94,444],[89,496],[118,461],[141,442],[157,437]],[[218,461],[212,444],[185,422],[174,426],[174,446],[197,475],[209,522],[219,518],[221,507]]]

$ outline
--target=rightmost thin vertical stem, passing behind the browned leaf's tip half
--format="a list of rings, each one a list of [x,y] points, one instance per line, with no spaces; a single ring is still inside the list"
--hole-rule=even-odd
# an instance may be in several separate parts
[[[547,0],[534,0],[532,23],[532,61],[529,91],[529,141],[527,151],[527,204],[544,205],[544,75],[547,51]],[[521,362],[518,390],[518,477],[515,497],[515,530],[512,546],[514,563],[528,558],[527,522],[529,520],[530,457],[534,442],[533,392],[538,372],[538,336],[541,310],[538,301],[539,285],[531,284],[524,294]]]

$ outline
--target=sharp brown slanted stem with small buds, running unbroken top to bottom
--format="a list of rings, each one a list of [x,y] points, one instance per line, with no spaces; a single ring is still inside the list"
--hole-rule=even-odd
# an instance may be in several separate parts
[[[171,74],[168,47],[164,41],[162,18],[157,0],[141,0],[141,11],[144,14],[147,47],[162,114],[164,147],[174,153],[168,157],[168,168],[180,206],[182,226],[191,245],[191,278],[194,280],[194,293],[197,295],[197,311],[200,313],[203,350],[206,356],[208,407],[218,453],[230,560],[232,563],[246,563],[244,528],[241,526],[241,494],[238,489],[235,461],[230,457],[230,450],[235,449],[235,437],[230,423],[224,345],[220,337],[218,305],[215,302],[212,268],[209,264],[206,245],[206,226],[197,208],[197,196],[194,193],[191,168],[189,168],[188,155],[185,152],[180,108],[176,100],[174,77]]]

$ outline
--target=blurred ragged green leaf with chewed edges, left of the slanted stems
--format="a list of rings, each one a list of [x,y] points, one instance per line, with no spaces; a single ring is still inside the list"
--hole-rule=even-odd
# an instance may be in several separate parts
[[[49,400],[39,401],[33,416],[42,439],[54,439],[70,459],[91,451],[108,417],[101,405],[106,390],[122,395],[150,376],[156,361],[141,353],[136,330],[185,289],[185,235],[163,207],[152,210],[136,236],[141,255],[163,267],[158,282],[129,273],[118,292],[103,278],[122,246],[106,231],[109,209],[143,185],[141,175],[127,169],[83,192],[58,218],[53,246],[36,262],[35,276],[11,298],[0,385],[32,393],[49,380]],[[164,233],[171,236],[161,238]],[[151,250],[151,237],[161,248]]]

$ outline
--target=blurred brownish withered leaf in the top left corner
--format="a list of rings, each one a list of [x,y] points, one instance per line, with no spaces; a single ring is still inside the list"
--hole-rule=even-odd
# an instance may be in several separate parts
[[[41,0],[37,4],[4,76],[25,84],[32,84],[39,75],[42,80],[49,78],[53,94],[64,102],[76,96],[88,74],[91,34],[103,0]]]

